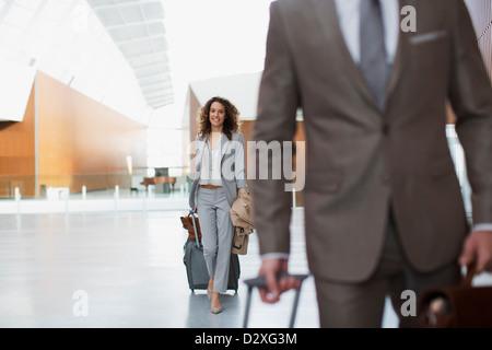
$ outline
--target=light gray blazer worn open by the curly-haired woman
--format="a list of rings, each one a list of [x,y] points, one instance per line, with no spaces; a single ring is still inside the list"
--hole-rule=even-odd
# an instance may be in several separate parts
[[[209,136],[196,138],[196,159],[195,172],[191,174],[194,183],[189,194],[190,208],[197,207],[198,184],[200,182],[201,160],[203,149],[209,140]],[[243,133],[234,132],[232,140],[222,133],[221,139],[221,180],[227,198],[229,205],[232,206],[237,197],[238,188],[246,188],[246,167],[244,160],[244,138]]]

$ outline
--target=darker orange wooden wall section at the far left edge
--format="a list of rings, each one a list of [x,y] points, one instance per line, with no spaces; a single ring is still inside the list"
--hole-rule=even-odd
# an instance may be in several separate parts
[[[0,198],[14,196],[19,187],[23,197],[35,194],[35,104],[34,86],[23,121],[0,121]]]

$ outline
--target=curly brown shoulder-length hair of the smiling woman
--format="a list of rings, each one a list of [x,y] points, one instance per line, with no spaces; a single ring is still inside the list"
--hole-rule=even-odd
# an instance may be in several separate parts
[[[200,115],[198,117],[198,122],[200,125],[200,131],[198,132],[198,135],[200,137],[204,137],[212,131],[212,125],[210,124],[209,115],[210,107],[214,102],[219,102],[225,108],[225,119],[222,132],[224,132],[227,139],[232,140],[233,132],[238,132],[241,129],[239,112],[229,100],[223,97],[212,97],[201,108]]]

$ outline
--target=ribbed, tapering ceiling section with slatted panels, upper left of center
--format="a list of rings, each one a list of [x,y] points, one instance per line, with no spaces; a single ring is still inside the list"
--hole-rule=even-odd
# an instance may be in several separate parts
[[[150,107],[174,102],[164,9],[159,0],[87,0],[131,66]]]

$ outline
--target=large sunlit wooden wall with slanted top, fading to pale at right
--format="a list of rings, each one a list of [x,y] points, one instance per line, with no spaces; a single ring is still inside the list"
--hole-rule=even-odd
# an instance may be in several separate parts
[[[127,156],[147,166],[147,127],[44,73],[37,84],[39,186],[129,188]]]

